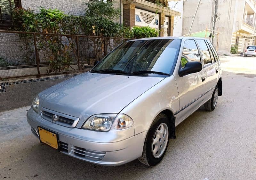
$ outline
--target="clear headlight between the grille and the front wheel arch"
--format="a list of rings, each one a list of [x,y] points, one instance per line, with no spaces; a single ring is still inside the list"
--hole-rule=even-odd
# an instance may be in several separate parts
[[[82,128],[109,131],[132,126],[134,126],[132,118],[125,114],[96,114],[87,119]]]

